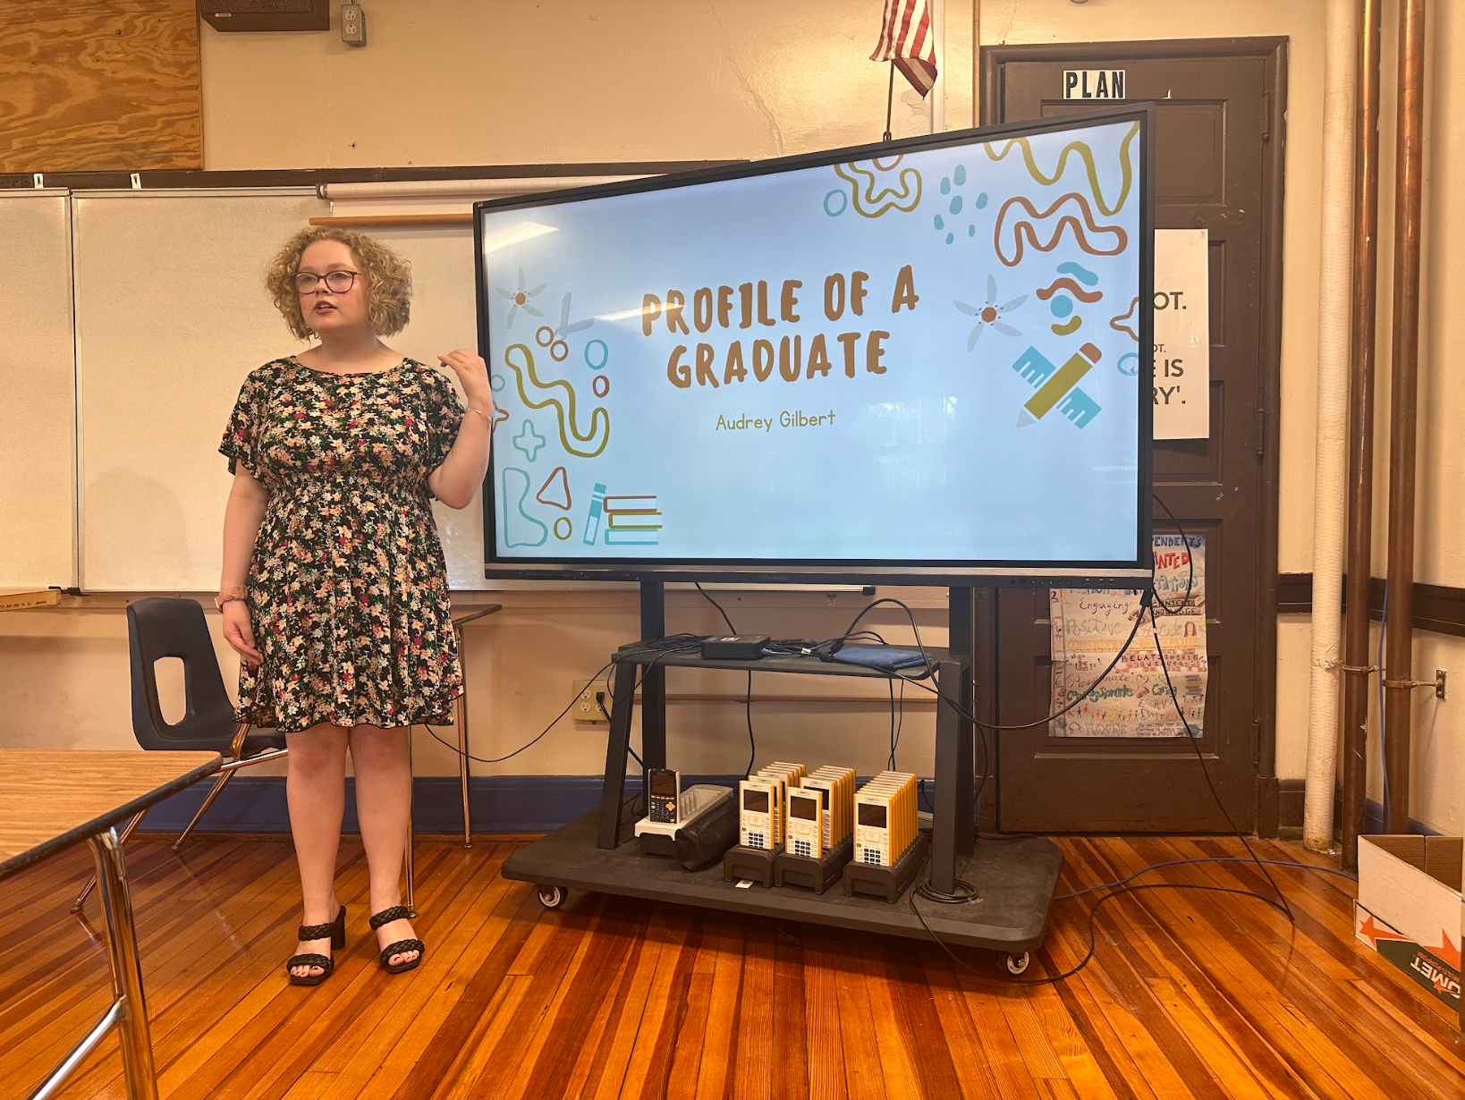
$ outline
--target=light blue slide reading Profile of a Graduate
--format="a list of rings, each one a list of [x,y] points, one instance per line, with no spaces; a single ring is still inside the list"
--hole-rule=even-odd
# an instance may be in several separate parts
[[[479,207],[489,560],[1135,562],[1141,146]]]

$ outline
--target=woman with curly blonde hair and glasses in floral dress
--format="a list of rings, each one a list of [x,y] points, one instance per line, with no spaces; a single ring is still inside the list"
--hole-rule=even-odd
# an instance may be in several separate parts
[[[290,981],[330,977],[346,945],[335,855],[346,751],[371,870],[381,965],[422,959],[398,877],[412,804],[407,737],[447,724],[463,690],[429,497],[473,498],[488,467],[483,360],[434,368],[382,343],[407,324],[407,264],[350,230],[297,233],[267,277],[290,331],[316,344],[251,372],[220,451],[234,483],[217,603],[242,658],[239,721],[286,734],[305,917]]]

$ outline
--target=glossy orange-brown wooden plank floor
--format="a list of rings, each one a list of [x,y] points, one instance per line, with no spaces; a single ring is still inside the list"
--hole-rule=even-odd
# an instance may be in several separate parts
[[[1064,888],[1234,841],[1065,839]],[[1261,842],[1266,857],[1307,858]],[[129,847],[163,1097],[1338,1097],[1465,1096],[1444,1008],[1360,949],[1352,883],[1275,869],[1295,932],[1260,902],[1147,891],[1100,910],[1077,977],[1018,989],[933,945],[579,896],[539,907],[498,877],[510,842],[419,842],[418,971],[388,977],[365,863],[343,857],[350,943],[319,989],[286,983],[287,842]],[[0,1096],[108,1000],[97,902],[67,915],[85,850],[0,883]],[[1151,880],[1264,889],[1254,867]],[[1028,977],[1087,949],[1061,902]],[[984,973],[993,958],[963,955]],[[120,1097],[108,1038],[64,1097]]]

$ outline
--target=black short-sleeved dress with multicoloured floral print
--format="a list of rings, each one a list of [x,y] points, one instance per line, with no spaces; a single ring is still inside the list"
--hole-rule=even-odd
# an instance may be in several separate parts
[[[240,722],[451,722],[463,669],[426,479],[463,413],[412,359],[355,375],[275,359],[245,379],[218,450],[270,502],[246,584],[264,661],[240,665]]]

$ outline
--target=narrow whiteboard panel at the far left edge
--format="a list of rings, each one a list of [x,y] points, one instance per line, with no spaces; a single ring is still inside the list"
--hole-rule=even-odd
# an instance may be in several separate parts
[[[76,583],[70,202],[0,198],[0,587]]]

